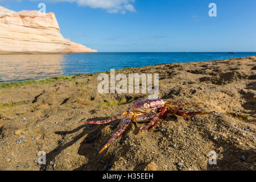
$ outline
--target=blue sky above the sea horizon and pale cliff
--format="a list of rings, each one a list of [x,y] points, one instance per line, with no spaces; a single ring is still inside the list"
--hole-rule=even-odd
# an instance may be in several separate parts
[[[256,52],[255,0],[0,0],[53,12],[61,34],[99,52]],[[210,17],[209,3],[217,17]]]

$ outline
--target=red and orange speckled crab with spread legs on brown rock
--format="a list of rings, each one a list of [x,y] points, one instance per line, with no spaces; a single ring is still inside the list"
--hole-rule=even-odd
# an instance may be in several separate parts
[[[199,107],[195,111],[185,112],[181,107],[181,105],[193,105],[193,104],[201,104],[201,102],[190,102],[190,103],[179,103],[179,102],[169,102],[160,99],[155,100],[142,100],[135,102],[131,109],[127,111],[123,111],[109,119],[103,121],[85,121],[85,123],[94,124],[94,125],[102,125],[105,123],[109,123],[125,115],[125,118],[121,120],[118,125],[119,130],[115,132],[115,134],[108,140],[108,143],[101,149],[98,154],[104,151],[106,148],[110,146],[115,138],[121,135],[129,126],[131,122],[148,122],[143,129],[139,130],[138,133],[142,133],[144,130],[149,129],[148,131],[154,130],[159,124],[160,121],[166,118],[167,114],[175,114],[180,115],[181,117],[188,118],[189,115],[197,115],[197,114],[212,114],[210,112],[200,111],[202,108]]]

